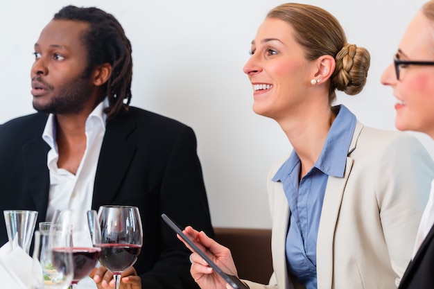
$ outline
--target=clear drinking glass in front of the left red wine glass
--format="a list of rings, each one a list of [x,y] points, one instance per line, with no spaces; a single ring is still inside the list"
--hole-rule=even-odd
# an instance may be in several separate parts
[[[73,278],[71,235],[49,223],[35,231],[33,289],[67,289]]]

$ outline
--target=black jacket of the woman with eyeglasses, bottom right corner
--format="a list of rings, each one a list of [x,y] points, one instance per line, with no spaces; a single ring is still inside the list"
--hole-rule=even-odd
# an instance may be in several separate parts
[[[434,227],[431,227],[415,258],[408,264],[398,288],[434,288]]]

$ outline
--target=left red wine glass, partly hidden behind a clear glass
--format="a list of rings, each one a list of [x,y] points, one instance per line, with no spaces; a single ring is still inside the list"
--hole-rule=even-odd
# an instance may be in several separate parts
[[[101,253],[101,248],[96,246],[101,243],[98,216],[94,210],[58,210],[52,224],[71,234],[69,249],[72,250],[74,265],[71,289],[77,289],[78,281],[95,268]]]

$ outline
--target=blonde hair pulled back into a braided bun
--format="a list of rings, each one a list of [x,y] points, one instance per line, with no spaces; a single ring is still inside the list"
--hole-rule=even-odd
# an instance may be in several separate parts
[[[347,43],[345,32],[333,15],[316,6],[284,3],[270,10],[266,18],[281,19],[293,27],[295,41],[304,48],[307,60],[322,55],[335,58],[329,103],[336,99],[336,89],[349,95],[362,91],[370,67],[370,53],[363,47]]]

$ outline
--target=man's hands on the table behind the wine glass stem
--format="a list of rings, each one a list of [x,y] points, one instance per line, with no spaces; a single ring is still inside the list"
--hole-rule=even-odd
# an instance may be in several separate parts
[[[94,279],[98,289],[114,288],[113,273],[107,270],[104,266],[95,268],[90,272],[89,277]],[[119,289],[141,289],[141,279],[137,276],[134,267],[130,267],[122,273]]]

